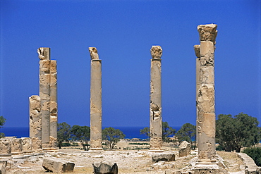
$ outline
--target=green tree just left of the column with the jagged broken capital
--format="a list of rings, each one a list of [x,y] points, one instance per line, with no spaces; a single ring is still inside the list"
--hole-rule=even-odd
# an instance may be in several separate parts
[[[84,150],[87,149],[87,144],[90,140],[90,127],[89,126],[80,126],[73,125],[71,128],[72,139],[75,141],[79,141],[82,144]]]

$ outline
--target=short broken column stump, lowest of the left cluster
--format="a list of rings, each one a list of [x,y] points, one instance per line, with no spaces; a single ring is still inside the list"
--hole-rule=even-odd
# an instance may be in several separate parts
[[[33,150],[42,149],[42,117],[41,117],[41,99],[37,95],[29,97],[30,113],[30,138]]]

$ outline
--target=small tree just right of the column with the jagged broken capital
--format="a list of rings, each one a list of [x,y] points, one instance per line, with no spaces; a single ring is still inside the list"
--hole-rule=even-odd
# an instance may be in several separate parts
[[[120,141],[120,139],[123,139],[125,135],[121,130],[114,129],[114,128],[104,128],[102,130],[102,139],[105,140],[106,146],[109,149],[114,149],[115,145]]]

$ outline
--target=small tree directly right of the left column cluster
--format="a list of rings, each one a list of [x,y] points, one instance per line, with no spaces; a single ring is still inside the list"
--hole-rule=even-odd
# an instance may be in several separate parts
[[[68,142],[71,138],[71,125],[67,123],[59,123],[57,128],[57,139],[58,139],[58,146],[61,149],[61,144],[63,142]]]

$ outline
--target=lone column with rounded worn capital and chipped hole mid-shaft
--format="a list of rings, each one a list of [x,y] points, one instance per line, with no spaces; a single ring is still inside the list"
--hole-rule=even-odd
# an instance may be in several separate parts
[[[152,46],[150,67],[150,151],[162,149],[162,47]]]

